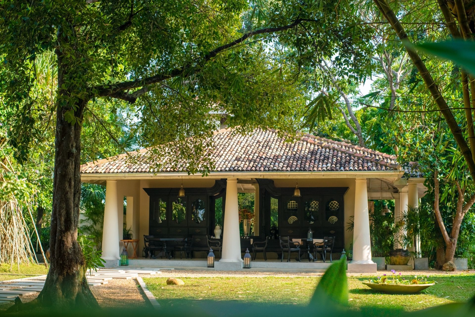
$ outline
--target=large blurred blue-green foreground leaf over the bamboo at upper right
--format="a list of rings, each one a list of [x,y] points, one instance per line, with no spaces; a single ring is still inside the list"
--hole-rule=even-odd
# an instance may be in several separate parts
[[[438,58],[449,59],[475,76],[475,42],[454,39],[437,43],[413,45],[413,48]]]

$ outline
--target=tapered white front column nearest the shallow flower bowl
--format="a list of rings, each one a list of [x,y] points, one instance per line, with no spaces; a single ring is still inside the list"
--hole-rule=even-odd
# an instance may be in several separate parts
[[[366,178],[355,180],[355,214],[353,221],[353,260],[351,263],[372,264]]]

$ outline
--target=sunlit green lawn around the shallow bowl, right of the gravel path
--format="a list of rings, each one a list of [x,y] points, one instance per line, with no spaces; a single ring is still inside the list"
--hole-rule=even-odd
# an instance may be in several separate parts
[[[166,278],[145,278],[147,287],[162,306],[175,306],[200,300],[232,300],[263,304],[307,305],[319,277],[209,277],[180,278],[185,285],[166,285]],[[475,275],[434,275],[437,284],[416,295],[377,293],[361,281],[368,278],[348,278],[350,307],[381,306],[404,310],[465,301],[475,295]]]

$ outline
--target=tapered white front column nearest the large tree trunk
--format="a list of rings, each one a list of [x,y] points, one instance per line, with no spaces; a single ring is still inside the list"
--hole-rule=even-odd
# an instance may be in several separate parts
[[[117,181],[107,181],[105,188],[104,225],[102,228],[102,258],[120,258],[117,215]]]

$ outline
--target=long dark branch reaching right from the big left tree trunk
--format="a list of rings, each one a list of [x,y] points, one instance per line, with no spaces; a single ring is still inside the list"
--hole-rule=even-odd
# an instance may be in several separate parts
[[[180,75],[189,75],[191,72],[197,73],[200,70],[200,67],[203,66],[206,62],[208,62],[211,58],[216,57],[220,52],[227,50],[228,48],[232,48],[236,46],[237,44],[240,44],[244,42],[247,38],[259,35],[259,34],[265,34],[265,33],[274,33],[274,32],[281,32],[287,29],[292,29],[295,26],[297,26],[299,23],[301,23],[300,19],[296,19],[293,23],[281,26],[281,27],[276,27],[276,28],[265,28],[265,29],[258,29],[255,31],[248,32],[244,34],[242,37],[235,39],[232,42],[229,42],[228,44],[222,45],[218,48],[213,49],[212,51],[209,51],[207,54],[205,54],[202,58],[199,58],[195,62],[190,62],[187,65],[183,67],[177,67],[175,69],[172,69],[170,71],[164,71],[161,73],[158,73],[156,75],[153,75],[151,77],[145,77],[145,78],[140,78],[136,80],[130,80],[130,81],[124,81],[124,82],[119,82],[116,84],[110,84],[110,85],[104,85],[104,86],[97,86],[95,87],[96,89],[96,95],[97,96],[111,96],[114,98],[120,98],[123,100],[127,100],[129,102],[135,102],[138,96],[144,93],[144,91],[137,91],[133,92],[131,94],[123,92],[124,90],[128,89],[134,89],[134,88],[139,88],[143,86],[149,86],[153,84],[160,83],[163,80],[170,79],[173,77],[177,77]]]

